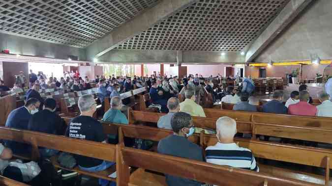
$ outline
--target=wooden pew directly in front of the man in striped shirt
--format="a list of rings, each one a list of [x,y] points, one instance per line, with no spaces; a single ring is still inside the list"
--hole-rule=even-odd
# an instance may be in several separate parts
[[[215,145],[218,141],[216,136],[204,133],[201,133],[200,140],[200,144],[203,148]],[[332,168],[330,158],[332,156],[332,150],[295,145],[282,145],[279,143],[263,142],[243,138],[235,138],[235,142],[238,143],[240,147],[250,149],[253,152],[255,158],[273,159],[325,168],[325,177],[310,174],[307,175],[304,179],[308,182],[314,182],[321,185],[332,185],[332,182],[330,182],[330,169]],[[273,172],[273,169],[275,168],[272,166],[261,166],[260,172],[266,172],[272,175],[275,174],[273,176],[280,176],[284,178],[303,179],[303,177],[301,178],[301,176],[298,174],[292,173],[293,171],[284,168],[276,168],[276,170],[279,169],[279,171]],[[305,173],[302,172],[300,172],[300,174],[305,175]]]

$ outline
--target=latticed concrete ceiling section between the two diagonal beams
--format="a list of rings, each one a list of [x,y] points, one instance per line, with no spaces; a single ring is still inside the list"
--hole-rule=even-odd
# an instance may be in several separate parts
[[[117,49],[240,52],[289,0],[200,0]]]

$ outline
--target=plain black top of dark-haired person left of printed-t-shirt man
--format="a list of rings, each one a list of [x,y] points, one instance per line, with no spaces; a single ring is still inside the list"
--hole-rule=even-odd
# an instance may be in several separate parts
[[[44,109],[32,115],[28,130],[63,135],[63,121],[58,114]]]

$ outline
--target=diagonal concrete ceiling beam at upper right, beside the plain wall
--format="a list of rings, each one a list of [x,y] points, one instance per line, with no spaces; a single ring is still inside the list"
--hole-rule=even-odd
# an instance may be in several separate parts
[[[312,0],[290,0],[279,15],[250,46],[245,56],[245,61],[251,62],[255,59],[311,1]]]

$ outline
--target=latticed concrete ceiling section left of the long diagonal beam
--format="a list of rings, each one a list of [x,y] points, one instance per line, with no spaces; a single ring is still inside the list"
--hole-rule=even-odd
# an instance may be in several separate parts
[[[0,32],[84,48],[158,0],[0,0]]]

